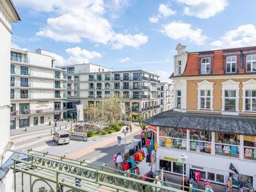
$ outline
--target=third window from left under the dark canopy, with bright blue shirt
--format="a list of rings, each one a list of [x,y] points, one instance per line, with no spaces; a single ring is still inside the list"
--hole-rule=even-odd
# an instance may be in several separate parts
[[[239,158],[239,135],[236,134],[215,134],[215,153],[220,156]]]

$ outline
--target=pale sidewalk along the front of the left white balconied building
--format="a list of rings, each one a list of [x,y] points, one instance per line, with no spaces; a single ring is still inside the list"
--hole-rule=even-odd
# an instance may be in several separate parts
[[[56,128],[60,128],[60,126],[63,126],[63,125],[71,125],[71,123],[74,124],[73,122],[67,122],[67,121],[57,122]],[[10,135],[15,136],[18,134],[25,134],[27,132],[39,131],[39,130],[44,130],[44,129],[52,129],[52,128],[54,128],[54,122],[52,122],[51,125],[44,124],[44,125],[36,125],[36,126],[32,126],[32,127],[27,127],[27,131],[25,131],[25,128],[12,129],[10,131]]]

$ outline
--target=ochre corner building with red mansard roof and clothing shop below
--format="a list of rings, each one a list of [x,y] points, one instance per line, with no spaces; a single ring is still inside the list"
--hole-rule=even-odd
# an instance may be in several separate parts
[[[147,123],[157,132],[157,169],[200,173],[214,188],[256,188],[256,47],[187,52],[174,56],[173,110]],[[181,163],[181,164],[180,164]],[[200,182],[202,188],[202,182]]]

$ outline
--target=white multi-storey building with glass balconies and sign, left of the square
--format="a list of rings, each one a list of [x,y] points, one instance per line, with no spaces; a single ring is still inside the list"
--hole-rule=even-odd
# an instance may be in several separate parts
[[[49,52],[11,49],[11,120],[10,128],[49,124],[63,118],[63,72],[54,68]]]

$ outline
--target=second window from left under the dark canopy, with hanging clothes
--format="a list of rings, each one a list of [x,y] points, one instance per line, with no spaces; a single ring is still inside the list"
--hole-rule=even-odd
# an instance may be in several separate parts
[[[211,136],[210,131],[190,131],[190,150],[211,154]]]

